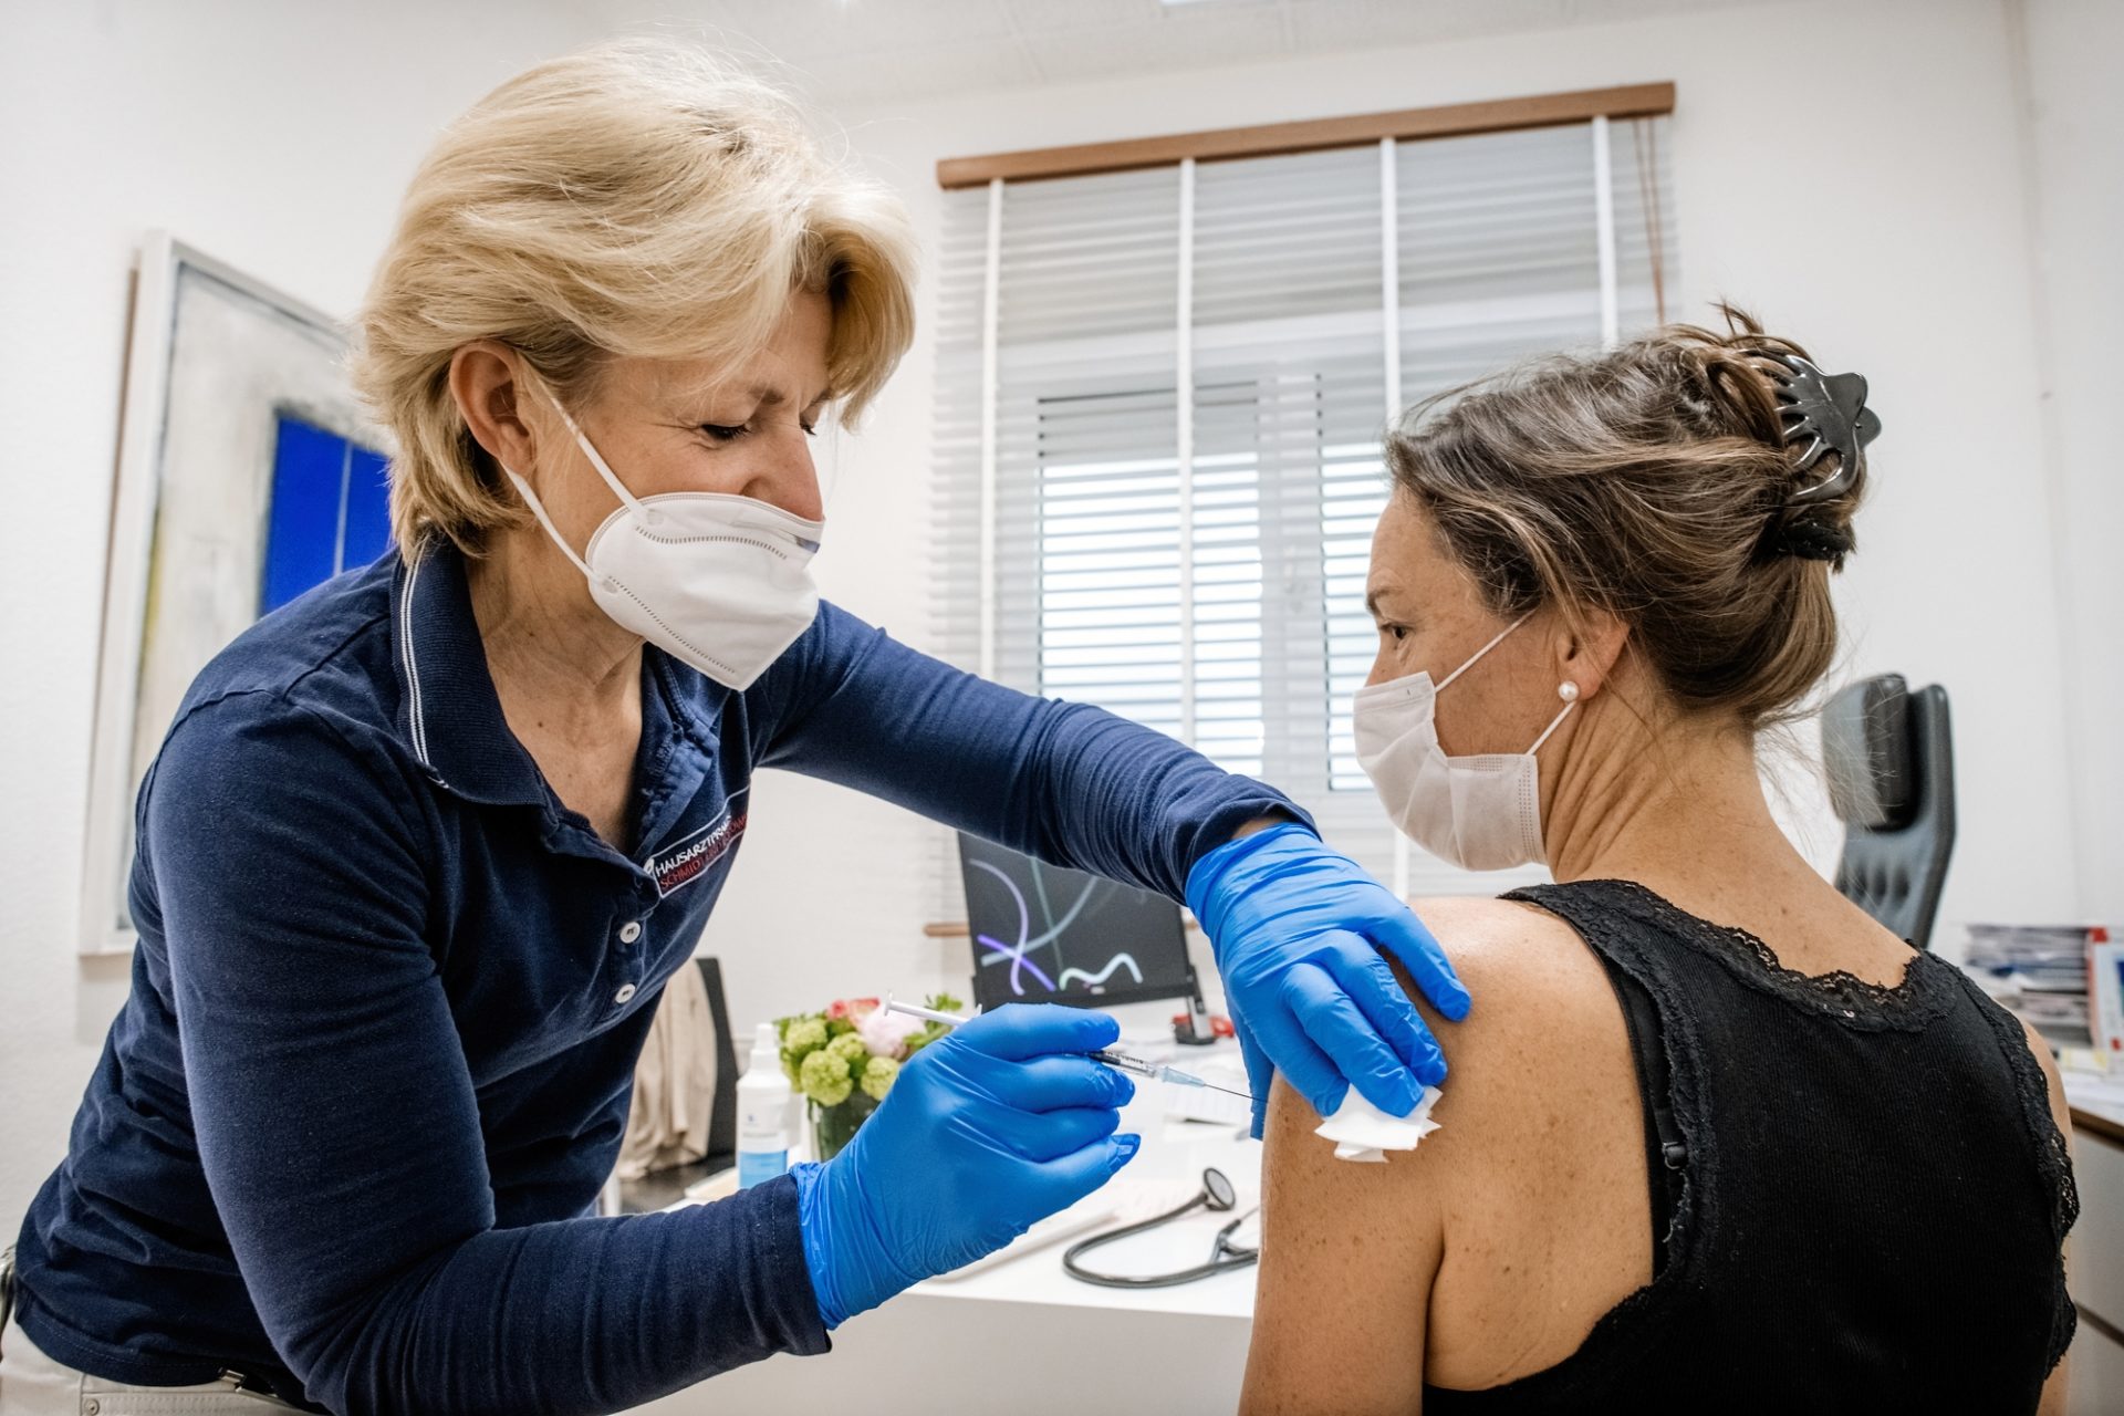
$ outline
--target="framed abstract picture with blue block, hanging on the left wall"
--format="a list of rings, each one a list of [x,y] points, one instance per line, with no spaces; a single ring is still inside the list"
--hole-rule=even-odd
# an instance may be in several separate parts
[[[340,321],[149,234],[134,284],[81,951],[134,943],[134,798],[185,690],[261,614],[389,543]]]

